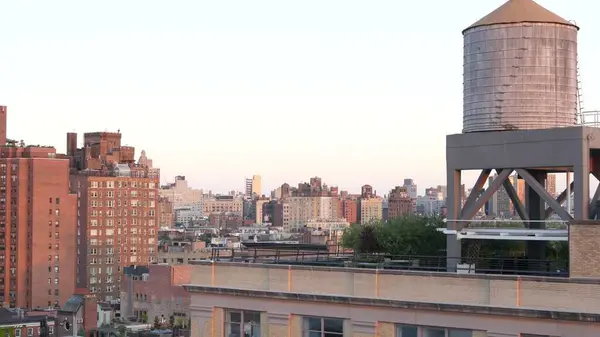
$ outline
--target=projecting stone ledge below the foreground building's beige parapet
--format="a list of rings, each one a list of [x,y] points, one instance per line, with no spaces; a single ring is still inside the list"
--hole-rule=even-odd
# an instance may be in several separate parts
[[[493,316],[510,316],[524,317],[537,319],[554,319],[570,322],[589,322],[600,323],[600,314],[566,312],[566,311],[551,311],[540,309],[522,309],[522,308],[505,308],[505,307],[490,307],[478,305],[462,305],[448,303],[427,303],[427,302],[409,302],[398,300],[383,300],[364,297],[351,296],[332,296],[332,295],[314,295],[301,293],[287,293],[261,290],[244,290],[234,288],[221,287],[205,287],[193,284],[184,284],[183,287],[191,293],[219,294],[227,296],[242,296],[255,297],[277,300],[293,300],[303,302],[317,303],[333,303],[341,305],[358,305],[358,306],[374,306],[387,307],[397,309],[412,309],[412,310],[428,310],[441,312],[458,312],[480,315]]]

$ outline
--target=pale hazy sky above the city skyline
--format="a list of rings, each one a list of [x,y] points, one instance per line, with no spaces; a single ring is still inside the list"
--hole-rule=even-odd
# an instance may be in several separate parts
[[[0,105],[10,138],[59,151],[66,132],[121,129],[163,181],[422,190],[445,184],[462,127],[461,31],[503,2],[0,0]],[[600,108],[598,5],[538,3],[581,27]]]

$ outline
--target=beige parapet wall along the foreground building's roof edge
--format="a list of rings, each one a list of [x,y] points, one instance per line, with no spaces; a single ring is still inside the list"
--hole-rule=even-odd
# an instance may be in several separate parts
[[[197,262],[192,285],[373,300],[600,313],[600,280]]]

